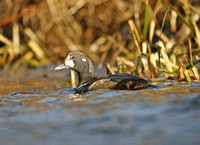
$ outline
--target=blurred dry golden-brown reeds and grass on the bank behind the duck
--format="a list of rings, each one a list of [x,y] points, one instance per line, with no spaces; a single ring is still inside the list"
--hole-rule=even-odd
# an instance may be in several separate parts
[[[109,73],[199,80],[200,1],[0,1],[1,69],[59,63],[76,50]]]

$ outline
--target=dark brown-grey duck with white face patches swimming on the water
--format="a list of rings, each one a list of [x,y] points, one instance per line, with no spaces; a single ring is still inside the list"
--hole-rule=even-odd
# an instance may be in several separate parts
[[[149,83],[132,74],[114,74],[97,79],[92,62],[82,52],[72,51],[55,70],[69,68],[78,73],[79,84],[76,93],[96,89],[136,90],[149,86]]]

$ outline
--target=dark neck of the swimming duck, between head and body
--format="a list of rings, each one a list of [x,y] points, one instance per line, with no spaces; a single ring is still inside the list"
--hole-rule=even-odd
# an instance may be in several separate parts
[[[87,72],[87,73],[79,73],[78,72],[78,80],[79,80],[79,84],[78,86],[81,86],[85,83],[91,83],[94,82],[97,79],[96,75],[94,72]]]

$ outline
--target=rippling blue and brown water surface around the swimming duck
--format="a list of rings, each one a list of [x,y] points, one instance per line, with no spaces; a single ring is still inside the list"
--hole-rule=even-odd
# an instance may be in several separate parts
[[[0,144],[199,145],[200,82],[77,96],[53,69],[0,72]]]

